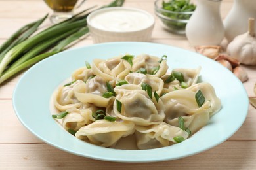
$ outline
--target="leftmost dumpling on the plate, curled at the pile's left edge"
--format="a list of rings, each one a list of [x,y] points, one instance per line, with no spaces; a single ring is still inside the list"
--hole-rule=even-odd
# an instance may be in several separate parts
[[[74,95],[75,86],[79,84],[85,84],[82,80],[77,80],[70,86],[60,86],[53,95],[53,102],[56,109],[60,111],[65,111],[72,107],[79,108],[81,107],[80,101]]]

